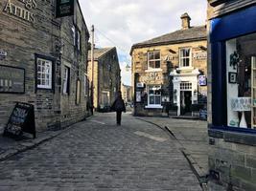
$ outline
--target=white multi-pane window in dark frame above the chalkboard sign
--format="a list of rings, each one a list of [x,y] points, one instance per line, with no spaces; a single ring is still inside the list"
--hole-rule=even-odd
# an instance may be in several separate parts
[[[44,67],[43,67],[43,64],[44,64]],[[52,90],[52,88],[53,88],[53,61],[37,57],[36,58],[36,67],[37,67],[36,68],[36,87],[39,89]],[[40,68],[40,71],[38,71],[39,68]],[[42,80],[45,81],[45,84],[42,84]],[[46,84],[46,81],[48,81],[48,84]]]

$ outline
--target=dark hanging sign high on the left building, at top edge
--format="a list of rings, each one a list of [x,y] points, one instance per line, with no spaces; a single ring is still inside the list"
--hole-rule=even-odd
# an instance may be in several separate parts
[[[56,17],[74,15],[74,0],[57,0]]]

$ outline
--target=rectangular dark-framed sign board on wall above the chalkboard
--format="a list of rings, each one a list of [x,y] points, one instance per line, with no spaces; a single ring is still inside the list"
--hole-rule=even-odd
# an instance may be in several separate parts
[[[0,65],[0,93],[25,93],[25,69]]]

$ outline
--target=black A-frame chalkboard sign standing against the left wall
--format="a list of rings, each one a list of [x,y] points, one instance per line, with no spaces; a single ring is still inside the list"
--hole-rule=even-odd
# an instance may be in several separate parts
[[[4,136],[21,139],[23,133],[32,134],[35,138],[34,105],[17,102],[4,131]]]

